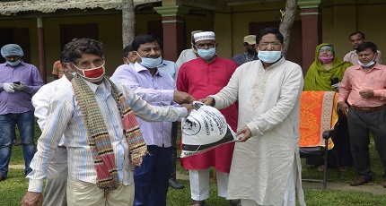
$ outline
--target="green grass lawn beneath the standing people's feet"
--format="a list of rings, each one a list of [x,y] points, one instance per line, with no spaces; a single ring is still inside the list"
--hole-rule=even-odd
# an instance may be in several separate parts
[[[35,133],[38,137],[39,129]],[[382,166],[378,154],[371,142],[371,157],[372,170],[374,174],[373,185],[382,184]],[[23,164],[22,146],[14,146],[11,164]],[[179,165],[179,164],[178,164]],[[178,166],[181,173],[188,174],[183,168]],[[321,173],[315,168],[303,166],[304,178],[320,178]],[[335,169],[328,170],[328,182],[349,183],[355,178],[355,168],[350,167],[346,172],[338,178]],[[187,206],[190,205],[190,187],[188,180],[180,180],[180,183],[185,185],[182,190],[170,189],[167,202],[171,206]],[[328,183],[328,185],[329,185]],[[24,177],[23,169],[10,169],[8,178],[0,182],[0,206],[16,206],[20,205],[22,196],[26,193],[28,180]],[[386,189],[385,189],[386,190]],[[304,189],[305,200],[308,205],[386,205],[386,195],[374,195],[371,193],[348,192],[338,190],[321,190],[321,189]],[[210,198],[206,200],[207,206],[226,206],[229,203],[224,198],[217,197],[216,185],[212,181],[210,183]]]

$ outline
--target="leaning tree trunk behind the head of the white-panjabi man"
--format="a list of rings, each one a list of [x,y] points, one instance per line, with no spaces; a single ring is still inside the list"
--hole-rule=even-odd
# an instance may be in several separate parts
[[[294,15],[297,9],[297,0],[287,0],[285,3],[285,13],[280,22],[279,30],[285,37],[285,47],[283,51],[283,56],[286,56],[290,37],[291,37],[291,27],[294,24]]]

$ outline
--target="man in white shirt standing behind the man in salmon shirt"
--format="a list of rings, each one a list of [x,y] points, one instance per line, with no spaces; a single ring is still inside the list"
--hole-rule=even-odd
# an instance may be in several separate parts
[[[357,65],[359,64],[358,63],[359,59],[358,59],[358,55],[356,54],[356,47],[358,47],[358,45],[366,41],[366,39],[364,39],[364,33],[362,31],[354,31],[348,36],[348,39],[350,40],[351,46],[354,47],[354,50],[348,52],[347,55],[343,58],[343,61]],[[377,53],[378,53],[378,56],[375,57],[375,61],[381,64],[382,53],[380,50],[378,50]]]

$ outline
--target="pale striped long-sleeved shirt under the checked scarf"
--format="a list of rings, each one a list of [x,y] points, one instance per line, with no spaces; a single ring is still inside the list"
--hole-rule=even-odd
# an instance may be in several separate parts
[[[110,135],[111,146],[118,167],[119,181],[123,185],[129,185],[133,182],[133,174],[129,169],[128,145],[123,133],[124,127],[117,103],[110,92],[110,83],[106,81],[99,85],[92,82],[86,83],[95,93],[95,99]],[[178,118],[188,115],[185,107],[154,107],[124,86],[117,84],[117,87],[126,96],[135,115],[145,121],[177,121]],[[54,150],[57,147],[63,134],[68,142],[68,176],[96,184],[92,151],[83,124],[83,119],[86,117],[79,111],[71,84],[57,92],[57,95],[48,105],[46,128],[41,133],[38,151],[31,162],[32,172],[27,176],[30,179],[28,191],[41,193],[48,159],[50,159],[49,150]]]

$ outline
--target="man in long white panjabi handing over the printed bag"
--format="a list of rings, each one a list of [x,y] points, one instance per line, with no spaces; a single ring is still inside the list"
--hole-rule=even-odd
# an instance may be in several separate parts
[[[305,205],[299,154],[300,95],[303,73],[281,55],[283,35],[261,30],[259,61],[242,64],[223,90],[206,105],[224,108],[239,100],[238,135],[227,199],[242,206]]]

